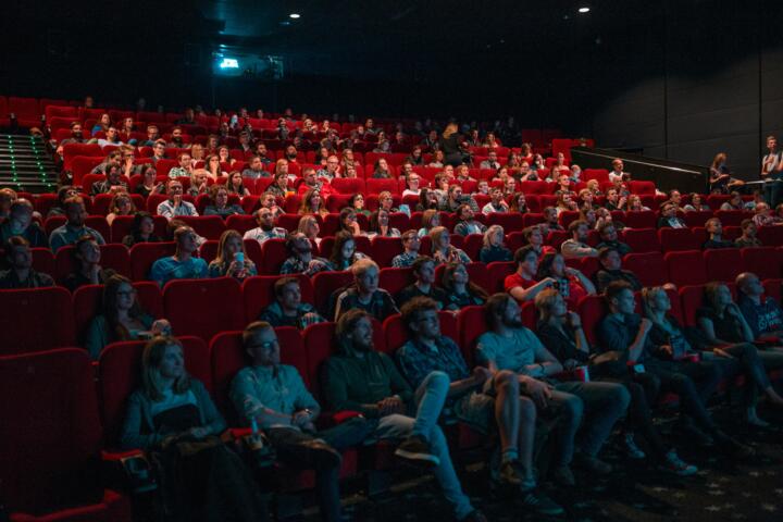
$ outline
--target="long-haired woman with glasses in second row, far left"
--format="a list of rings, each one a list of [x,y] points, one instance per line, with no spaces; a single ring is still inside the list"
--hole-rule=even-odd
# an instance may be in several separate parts
[[[85,336],[85,348],[92,360],[98,360],[103,347],[111,343],[158,335],[172,335],[169,321],[156,321],[141,309],[130,279],[119,274],[109,277],[103,287],[102,311],[92,319]]]

